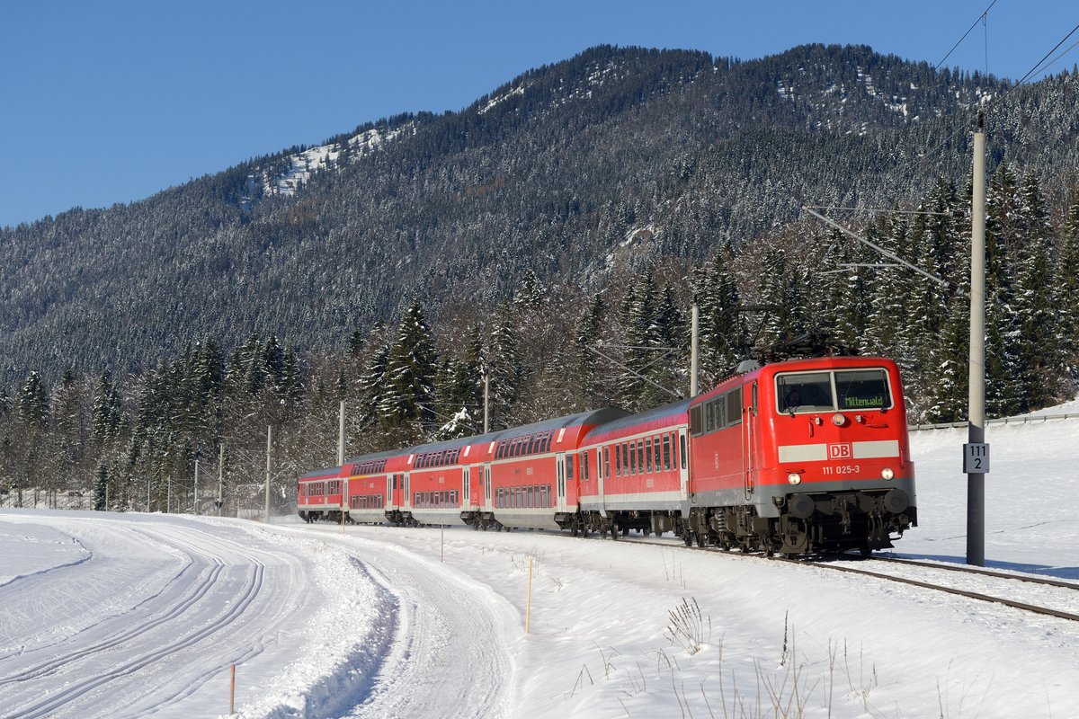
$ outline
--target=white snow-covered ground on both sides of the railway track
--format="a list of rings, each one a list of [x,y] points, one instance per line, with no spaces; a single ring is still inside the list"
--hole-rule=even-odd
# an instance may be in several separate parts
[[[912,435],[897,555],[964,562],[965,440]],[[987,441],[986,564],[1079,581],[1079,419]],[[0,510],[0,716],[227,716],[232,664],[246,718],[1079,716],[1077,622],[675,540],[282,521]]]

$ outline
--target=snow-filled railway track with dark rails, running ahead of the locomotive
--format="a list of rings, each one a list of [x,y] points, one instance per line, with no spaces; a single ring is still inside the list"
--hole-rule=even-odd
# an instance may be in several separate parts
[[[654,544],[666,548],[677,547],[673,542],[666,543],[644,539],[625,538],[620,541],[626,540],[640,544]],[[790,559],[778,556],[766,557],[763,554],[724,552],[716,547],[692,547],[687,549],[715,552],[729,556],[745,557],[746,559],[784,562],[804,567],[817,567],[824,570],[862,575],[944,594],[967,597],[969,599],[999,604],[1034,614],[1079,622],[1079,583],[1066,582],[1058,579],[1012,575],[992,569],[948,566],[932,562],[900,559],[896,557],[861,558],[849,555],[835,555],[830,559]],[[988,580],[983,578],[988,578]],[[1027,586],[1023,587],[1023,585]],[[993,592],[993,594],[987,592]]]

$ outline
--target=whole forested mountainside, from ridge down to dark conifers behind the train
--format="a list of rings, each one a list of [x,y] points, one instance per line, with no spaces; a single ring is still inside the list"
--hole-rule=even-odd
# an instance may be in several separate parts
[[[356,451],[475,431],[483,373],[495,427],[654,406],[688,384],[693,298],[705,388],[810,333],[897,357],[914,416],[956,418],[980,109],[991,411],[1048,402],[1077,350],[1077,89],[1076,72],[1013,87],[865,46],[602,46],[460,112],[0,230],[0,485],[44,465],[159,482],[222,442],[257,452],[267,425],[296,469],[329,464],[338,399]],[[951,286],[866,267],[803,205],[880,210],[832,213]],[[655,348],[617,358],[650,382],[600,340]]]

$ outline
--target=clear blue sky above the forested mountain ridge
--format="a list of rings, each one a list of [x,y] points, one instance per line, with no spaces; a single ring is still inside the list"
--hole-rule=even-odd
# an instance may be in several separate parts
[[[140,199],[398,112],[460,110],[601,43],[742,59],[860,43],[935,65],[992,1],[3,2],[0,225]],[[997,0],[946,65],[1016,80],[1077,24],[1076,0]],[[1079,49],[1049,70],[1077,61]]]

